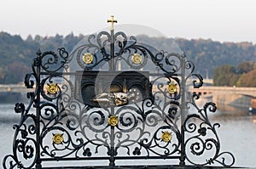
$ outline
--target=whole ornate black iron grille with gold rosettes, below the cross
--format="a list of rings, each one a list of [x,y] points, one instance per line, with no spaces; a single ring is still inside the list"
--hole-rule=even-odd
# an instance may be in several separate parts
[[[119,73],[119,62],[120,72],[138,78]],[[75,70],[73,65],[77,65]],[[118,72],[114,85],[109,83],[111,90],[104,88],[108,82],[101,86],[101,79],[90,82],[84,77],[93,77],[94,70]],[[214,162],[232,166],[234,156],[220,150],[219,124],[212,125],[208,119],[207,113],[213,113],[216,105],[210,102],[201,109],[195,104],[198,95],[187,96],[190,82],[195,88],[203,84],[194,70],[184,54],[160,51],[124,32],[90,35],[71,54],[65,48],[57,54],[38,51],[32,73],[25,78],[26,87],[34,91],[27,93],[27,106],[15,105],[20,123],[14,126],[13,154],[5,156],[3,168],[99,160],[115,166],[118,160],[140,159],[176,159],[181,166],[185,161],[196,166]],[[148,80],[140,82],[145,76]],[[84,101],[83,87],[103,92],[93,92],[94,98]],[[122,94],[126,98],[120,98]],[[195,112],[188,111],[191,107]]]

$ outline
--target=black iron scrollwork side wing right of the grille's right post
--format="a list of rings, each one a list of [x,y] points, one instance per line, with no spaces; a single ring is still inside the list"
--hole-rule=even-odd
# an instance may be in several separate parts
[[[218,123],[211,124],[208,119],[208,112],[214,113],[217,107],[214,103],[209,102],[200,109],[195,104],[195,99],[199,96],[194,94],[193,101],[189,104],[195,108],[193,114],[189,114],[184,121],[185,131],[188,132],[188,138],[185,145],[188,149],[187,160],[195,165],[211,165],[218,162],[223,166],[232,166],[235,157],[230,152],[220,151],[220,140],[217,129]]]

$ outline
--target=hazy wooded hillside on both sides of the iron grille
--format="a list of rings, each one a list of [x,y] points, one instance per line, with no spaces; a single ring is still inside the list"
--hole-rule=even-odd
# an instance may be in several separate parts
[[[16,74],[18,75],[18,67],[20,66],[19,69],[22,68],[22,70],[31,69],[32,59],[36,57],[38,48],[41,48],[42,51],[56,51],[57,48],[64,47],[70,53],[83,38],[83,35],[74,36],[73,33],[70,33],[66,37],[58,34],[55,37],[41,37],[37,35],[34,38],[28,36],[26,40],[23,40],[20,36],[11,36],[6,32],[0,32],[0,83],[23,81],[23,74],[15,76]],[[222,84],[221,81],[230,79],[227,84],[223,85],[232,86],[236,81],[240,82],[241,80],[239,79],[238,81],[238,78],[243,73],[253,70],[253,63],[256,61],[256,45],[250,42],[221,43],[214,42],[211,39],[186,40],[183,38],[148,37],[145,35],[137,36],[137,41],[167,52],[182,53],[184,51],[188,59],[195,63],[195,73],[200,73],[203,77],[207,77],[208,72],[208,76],[212,78],[213,70],[217,66],[237,66],[235,75],[231,70],[231,72],[227,70],[229,73],[227,76],[217,72],[220,77],[217,78],[215,76],[215,78],[217,78],[219,84]],[[248,60],[252,61],[248,62]],[[16,70],[10,69],[14,66],[17,67]]]

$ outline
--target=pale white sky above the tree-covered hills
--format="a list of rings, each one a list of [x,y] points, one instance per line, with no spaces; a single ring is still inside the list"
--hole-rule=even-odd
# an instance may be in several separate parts
[[[0,0],[0,31],[26,38],[146,25],[166,37],[256,44],[255,0]]]

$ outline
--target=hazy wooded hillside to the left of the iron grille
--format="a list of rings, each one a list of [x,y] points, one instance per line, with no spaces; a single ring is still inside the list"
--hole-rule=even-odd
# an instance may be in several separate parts
[[[20,36],[11,36],[6,32],[0,32],[0,83],[23,82],[26,73],[31,71],[32,59],[36,57],[38,48],[42,51],[67,48],[71,52],[74,45],[84,36],[74,37],[73,33],[62,37],[40,37],[34,39],[29,35],[26,40]]]

